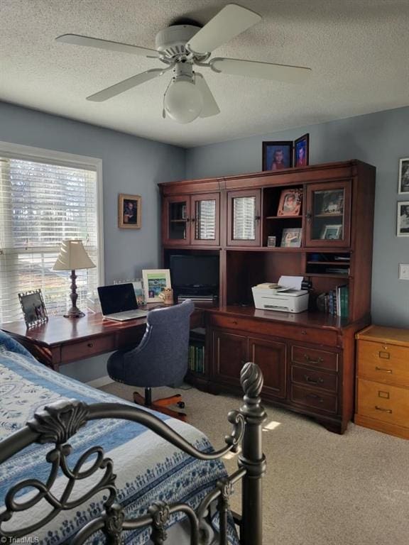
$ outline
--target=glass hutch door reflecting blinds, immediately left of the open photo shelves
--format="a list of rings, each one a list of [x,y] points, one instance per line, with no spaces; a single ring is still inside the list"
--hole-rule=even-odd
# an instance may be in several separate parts
[[[260,189],[228,193],[230,246],[260,246]]]

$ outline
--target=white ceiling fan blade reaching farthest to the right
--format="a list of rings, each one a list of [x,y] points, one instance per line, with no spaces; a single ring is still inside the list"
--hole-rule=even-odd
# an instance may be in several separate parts
[[[271,62],[256,62],[255,60],[215,58],[209,64],[214,72],[274,79],[286,83],[302,83],[312,72],[311,68],[302,66],[273,65]]]

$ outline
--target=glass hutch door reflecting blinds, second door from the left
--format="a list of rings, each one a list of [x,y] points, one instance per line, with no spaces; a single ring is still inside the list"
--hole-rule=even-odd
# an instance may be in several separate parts
[[[191,197],[191,243],[206,246],[219,245],[220,195],[208,193]]]

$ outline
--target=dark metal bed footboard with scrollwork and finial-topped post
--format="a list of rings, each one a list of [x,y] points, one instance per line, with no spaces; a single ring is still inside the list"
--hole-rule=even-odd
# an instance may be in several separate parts
[[[53,444],[53,449],[46,456],[46,460],[50,463],[50,475],[46,483],[31,478],[23,480],[9,489],[5,498],[6,510],[0,514],[1,543],[12,543],[13,539],[33,535],[36,530],[48,524],[63,510],[79,507],[82,502],[86,502],[97,492],[105,490],[108,492],[108,497],[104,502],[104,512],[77,532],[71,542],[72,545],[84,544],[90,536],[98,531],[102,531],[104,534],[105,543],[119,545],[122,532],[148,525],[152,527],[151,541],[153,544],[163,545],[167,542],[166,526],[170,514],[175,512],[182,512],[187,516],[190,522],[190,544],[199,545],[203,542],[202,529],[206,524],[213,524],[214,517],[209,515],[211,504],[217,505],[219,512],[219,527],[217,529],[219,544],[227,545],[229,496],[234,483],[242,480],[242,514],[240,516],[233,513],[234,522],[239,526],[240,544],[263,545],[261,479],[266,471],[266,458],[263,455],[261,444],[262,426],[266,419],[266,412],[260,399],[263,375],[258,365],[246,363],[241,370],[240,380],[244,390],[244,403],[239,411],[229,412],[228,419],[233,429],[231,434],[225,437],[227,446],[213,453],[203,453],[197,450],[180,434],[173,431],[168,424],[153,414],[121,403],[86,404],[77,400],[68,400],[55,402],[46,406],[42,411],[36,412],[33,419],[27,422],[23,429],[16,431],[1,442],[0,463],[33,443]],[[241,446],[239,469],[227,478],[219,480],[216,487],[207,494],[196,510],[183,503],[168,505],[165,502],[156,501],[148,508],[148,512],[143,517],[126,518],[121,505],[116,501],[114,463],[110,458],[105,457],[102,447],[89,448],[82,454],[74,468],[70,468],[67,463],[67,456],[72,451],[72,447],[67,443],[70,437],[90,420],[112,418],[143,424],[173,446],[200,460],[209,461],[221,458],[229,451],[237,452]],[[82,470],[82,466],[89,461],[91,456],[95,456],[92,466]],[[60,470],[67,477],[67,485],[61,497],[55,497],[52,488]],[[97,471],[102,472],[99,482],[85,492],[82,497],[70,500],[75,482],[88,478]],[[36,495],[25,502],[17,502],[18,493],[25,488],[37,490]],[[4,529],[4,523],[9,522],[14,514],[30,509],[41,500],[45,500],[53,508],[45,517],[30,526],[18,529],[18,531],[9,532]]]

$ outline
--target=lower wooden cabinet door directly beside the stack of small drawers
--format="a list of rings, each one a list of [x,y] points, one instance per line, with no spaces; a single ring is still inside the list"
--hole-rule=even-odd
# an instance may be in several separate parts
[[[285,398],[287,362],[285,343],[249,337],[248,360],[256,363],[264,376],[263,391]]]

